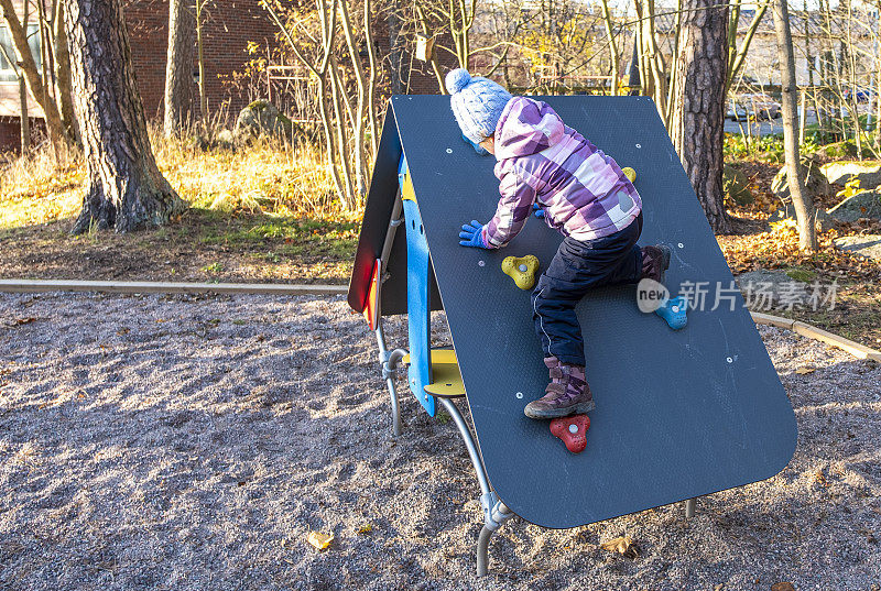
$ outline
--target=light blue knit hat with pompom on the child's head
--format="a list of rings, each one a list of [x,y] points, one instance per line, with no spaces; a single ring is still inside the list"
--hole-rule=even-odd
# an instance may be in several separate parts
[[[463,134],[476,144],[492,136],[511,94],[487,78],[471,78],[465,68],[449,72],[446,86]]]

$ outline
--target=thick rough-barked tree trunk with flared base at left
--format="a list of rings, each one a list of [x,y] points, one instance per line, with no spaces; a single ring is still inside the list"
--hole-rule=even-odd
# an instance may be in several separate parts
[[[72,1],[65,20],[89,178],[72,233],[161,226],[185,204],[153,157],[120,0]]]

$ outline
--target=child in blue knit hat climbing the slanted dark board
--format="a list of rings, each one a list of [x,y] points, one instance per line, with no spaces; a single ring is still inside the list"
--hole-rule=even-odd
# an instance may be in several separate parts
[[[454,69],[446,78],[463,135],[497,160],[499,200],[487,225],[463,226],[464,247],[498,249],[533,209],[566,238],[532,294],[535,332],[551,373],[545,396],[526,405],[531,418],[587,413],[584,338],[575,306],[595,287],[663,282],[671,251],[637,245],[642,201],[618,164],[566,127],[544,102],[512,97],[498,84]]]

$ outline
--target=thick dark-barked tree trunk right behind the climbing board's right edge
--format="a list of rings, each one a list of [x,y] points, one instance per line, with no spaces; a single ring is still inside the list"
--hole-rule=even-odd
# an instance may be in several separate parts
[[[685,0],[670,135],[716,233],[730,231],[722,190],[728,6]]]

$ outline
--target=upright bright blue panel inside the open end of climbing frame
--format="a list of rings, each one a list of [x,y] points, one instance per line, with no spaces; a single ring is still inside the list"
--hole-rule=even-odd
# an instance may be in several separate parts
[[[428,278],[432,263],[428,259],[428,243],[425,241],[420,208],[411,200],[404,200],[403,205],[406,226],[406,309],[410,333],[407,382],[410,391],[420,404],[425,407],[429,416],[434,416],[434,396],[425,393],[425,386],[432,383],[432,358],[428,349],[431,344]]]

